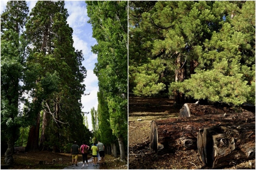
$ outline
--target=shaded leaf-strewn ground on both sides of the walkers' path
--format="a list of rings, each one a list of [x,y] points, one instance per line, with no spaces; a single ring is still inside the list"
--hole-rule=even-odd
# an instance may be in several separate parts
[[[88,155],[88,160],[92,157]],[[53,159],[56,160],[53,163]],[[88,167],[82,167],[82,155],[79,154],[78,165],[71,166],[71,155],[67,153],[53,153],[49,151],[42,151],[36,153],[18,153],[14,154],[14,166],[9,169],[127,169],[127,163],[114,158],[112,155],[105,155],[106,165],[93,166],[91,161],[88,161]],[[39,164],[42,160],[45,164]],[[1,165],[4,164],[4,155],[1,155]],[[2,166],[1,166],[2,169]]]

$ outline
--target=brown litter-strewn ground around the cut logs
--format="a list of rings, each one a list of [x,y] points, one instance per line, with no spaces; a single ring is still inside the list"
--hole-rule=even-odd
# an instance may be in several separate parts
[[[179,112],[180,108],[173,106],[173,99],[129,97],[129,169],[209,169],[199,159],[197,150],[164,155],[151,151],[151,121],[177,118]],[[255,159],[223,169],[255,169]]]

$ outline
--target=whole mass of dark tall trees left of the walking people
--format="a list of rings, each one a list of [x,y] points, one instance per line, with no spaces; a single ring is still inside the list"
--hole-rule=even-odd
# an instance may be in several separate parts
[[[14,146],[69,152],[74,140],[92,138],[81,112],[87,71],[68,16],[64,1],[38,1],[30,13],[25,1],[8,1],[1,14],[1,151],[8,165]]]

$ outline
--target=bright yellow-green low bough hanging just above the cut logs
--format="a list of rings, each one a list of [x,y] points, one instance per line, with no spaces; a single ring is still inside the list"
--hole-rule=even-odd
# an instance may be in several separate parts
[[[197,70],[190,79],[183,82],[171,83],[171,90],[184,92],[196,100],[208,99],[212,102],[221,102],[240,105],[247,101],[251,94],[251,87],[242,80],[242,74],[225,75],[228,67],[226,59],[213,63],[214,69]]]

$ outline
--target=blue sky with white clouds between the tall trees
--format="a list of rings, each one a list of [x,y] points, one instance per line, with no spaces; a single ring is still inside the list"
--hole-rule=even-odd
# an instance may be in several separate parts
[[[29,10],[36,5],[37,1],[27,1]],[[5,10],[7,1],[0,1],[1,13]],[[85,94],[82,96],[82,112],[91,112],[91,108],[94,107],[97,110],[97,91],[98,91],[98,80],[96,75],[93,73],[95,63],[97,62],[97,55],[91,52],[91,46],[97,42],[92,38],[92,27],[87,21],[87,9],[85,1],[65,1],[65,8],[67,8],[69,17],[67,22],[70,27],[73,28],[73,40],[74,47],[76,50],[82,50],[84,54],[84,61],[82,62],[87,70],[87,77],[84,80],[86,85]],[[91,114],[87,114],[89,129],[92,130]]]

